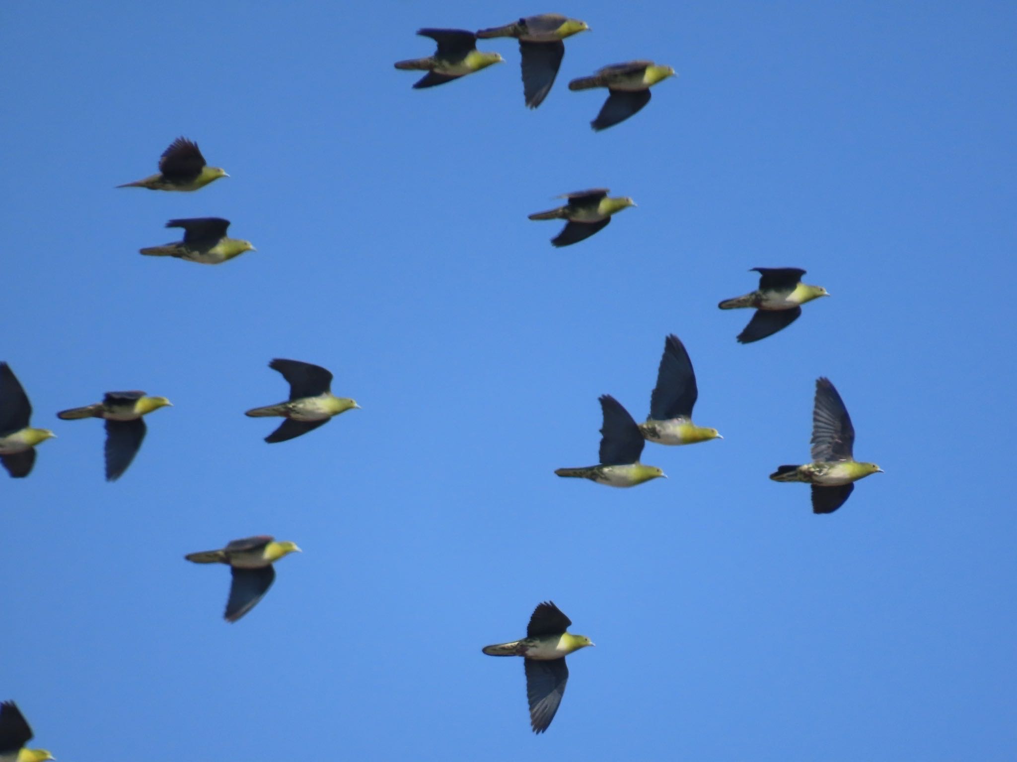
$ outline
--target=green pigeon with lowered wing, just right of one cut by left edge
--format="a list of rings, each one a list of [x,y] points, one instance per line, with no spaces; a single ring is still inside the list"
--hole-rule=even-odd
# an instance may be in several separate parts
[[[116,482],[141,449],[147,427],[142,416],[173,406],[166,397],[149,397],[143,391],[108,391],[102,402],[61,410],[57,418],[75,421],[101,418],[106,421],[106,481]]]

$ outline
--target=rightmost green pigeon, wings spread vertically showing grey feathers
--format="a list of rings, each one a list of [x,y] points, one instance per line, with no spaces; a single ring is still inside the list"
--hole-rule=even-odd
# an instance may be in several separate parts
[[[850,497],[854,482],[871,473],[883,473],[876,463],[859,463],[854,459],[851,417],[828,378],[816,381],[812,444],[813,462],[778,466],[770,479],[812,485],[813,513],[833,513]]]

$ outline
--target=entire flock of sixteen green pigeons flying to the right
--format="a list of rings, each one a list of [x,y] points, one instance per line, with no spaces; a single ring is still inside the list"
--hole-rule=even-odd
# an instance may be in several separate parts
[[[432,87],[473,74],[503,61],[497,53],[476,49],[478,38],[510,37],[519,41],[522,54],[523,89],[526,105],[535,109],[554,83],[564,56],[563,40],[589,29],[585,21],[548,13],[477,33],[464,29],[420,29],[417,34],[437,44],[433,56],[400,61],[397,69],[427,73],[413,86]],[[607,101],[591,123],[603,130],[629,119],[650,102],[650,87],[674,75],[669,66],[652,61],[630,61],[605,66],[593,76],[574,79],[573,90],[606,87]],[[159,173],[123,187],[163,191],[195,191],[229,177],[218,167],[210,167],[196,143],[180,137],[163,152]],[[531,219],[563,219],[565,227],[552,239],[554,246],[579,243],[603,230],[611,215],[635,202],[629,197],[611,198],[606,189],[567,193],[567,202],[549,211],[530,215]],[[201,264],[221,264],[246,251],[254,251],[249,241],[231,239],[228,219],[197,217],[171,219],[167,228],[184,231],[183,241],[140,250],[147,256],[169,256]],[[756,267],[759,289],[744,296],[724,300],[720,309],[755,309],[744,330],[737,336],[742,343],[758,341],[786,328],[801,315],[801,305],[829,296],[826,289],[801,281],[805,271],[795,267]],[[276,359],[270,367],[290,385],[287,401],[247,410],[252,418],[281,417],[283,423],[265,437],[268,443],[285,442],[327,423],[334,417],[360,405],[349,397],[332,393],[333,375],[324,368],[297,360]],[[646,441],[662,445],[687,445],[722,438],[716,429],[693,423],[693,407],[699,396],[693,364],[677,336],[668,335],[650,397],[647,421],[637,424],[614,397],[600,397],[603,426],[600,429],[599,462],[577,468],[558,468],[559,477],[587,479],[610,487],[635,487],[666,474],[640,462]],[[170,405],[166,397],[141,391],[107,392],[101,402],[62,410],[64,421],[99,418],[106,422],[106,479],[123,475],[137,454],[146,427],[143,417]],[[7,363],[0,363],[0,462],[14,478],[27,477],[36,461],[36,447],[56,435],[31,426],[32,404]],[[813,411],[812,461],[803,465],[781,465],[770,474],[777,482],[801,482],[812,486],[815,513],[832,513],[840,508],[854,489],[854,483],[882,469],[875,463],[859,462],[853,455],[854,429],[847,408],[834,385],[826,378],[816,383]],[[245,537],[225,548],[185,556],[197,564],[226,564],[232,583],[225,619],[236,622],[264,596],[272,586],[275,562],[300,549],[292,542],[277,542],[268,535]],[[530,723],[534,733],[550,725],[561,702],[569,670],[565,656],[593,645],[583,635],[567,632],[572,622],[553,602],[534,610],[526,637],[485,646],[492,656],[522,656],[526,673]],[[0,704],[0,762],[44,762],[54,757],[46,750],[27,749],[33,734],[17,706]]]

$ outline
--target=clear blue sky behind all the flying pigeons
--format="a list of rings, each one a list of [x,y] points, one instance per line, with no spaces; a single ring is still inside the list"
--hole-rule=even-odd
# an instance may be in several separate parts
[[[59,438],[0,480],[0,698],[69,762],[292,758],[1006,760],[1017,756],[1013,441],[1017,12],[1005,3],[501,0],[8,4],[0,23],[3,360]],[[430,90],[420,26],[559,11],[558,81],[506,63]],[[569,79],[677,78],[603,133]],[[231,178],[114,190],[178,135]],[[526,216],[604,186],[639,206],[577,246]],[[258,251],[141,257],[173,217]],[[751,345],[718,301],[754,266],[832,299]],[[595,461],[597,396],[637,419],[664,336],[723,441]],[[363,406],[261,441],[274,357]],[[829,376],[886,474],[839,512],[770,482]],[[124,478],[58,409],[144,389]],[[0,474],[2,475],[2,474]],[[243,621],[188,552],[304,553]],[[520,637],[553,599],[570,657],[545,736]]]

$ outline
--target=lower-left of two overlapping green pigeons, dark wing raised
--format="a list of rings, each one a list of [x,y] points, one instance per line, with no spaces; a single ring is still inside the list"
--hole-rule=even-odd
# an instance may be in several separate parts
[[[559,477],[589,479],[609,487],[635,487],[658,477],[667,478],[655,465],[643,465],[639,456],[646,440],[629,410],[610,394],[600,397],[604,426],[600,433],[600,464],[583,468],[558,468]]]

